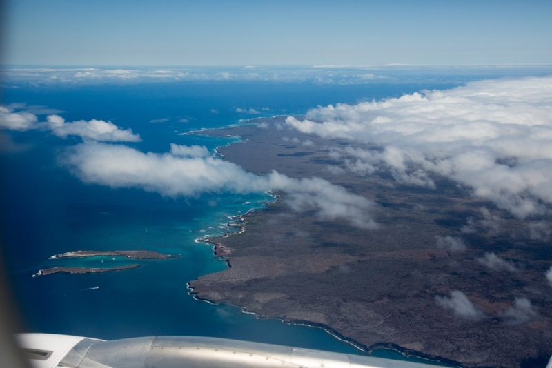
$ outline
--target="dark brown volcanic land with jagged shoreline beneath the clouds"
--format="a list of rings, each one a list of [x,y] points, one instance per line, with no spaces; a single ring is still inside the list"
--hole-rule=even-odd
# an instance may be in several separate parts
[[[546,365],[550,234],[535,235],[442,178],[428,189],[398,183],[390,172],[346,170],[348,158],[330,152],[348,142],[301,134],[282,121],[207,134],[242,136],[244,143],[219,152],[247,171],[317,176],[375,201],[380,228],[293,212],[277,193],[279,201],[244,217],[244,232],[213,239],[231,267],[191,282],[198,298],[323,325],[368,349],[393,344],[470,367]]]

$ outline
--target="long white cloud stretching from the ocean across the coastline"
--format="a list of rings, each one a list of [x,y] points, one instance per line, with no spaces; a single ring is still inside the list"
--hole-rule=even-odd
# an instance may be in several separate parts
[[[266,176],[208,156],[205,147],[171,145],[170,153],[143,153],[123,145],[82,143],[71,147],[61,163],[86,183],[113,188],[139,187],[164,196],[197,196],[204,192],[281,190],[293,211],[312,211],[322,221],[343,219],[361,229],[375,229],[375,203],[348,193],[321,178],[289,178],[275,171]]]

